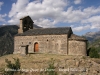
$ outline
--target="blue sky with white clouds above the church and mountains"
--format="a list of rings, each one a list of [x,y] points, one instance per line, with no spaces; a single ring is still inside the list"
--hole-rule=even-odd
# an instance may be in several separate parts
[[[40,27],[72,27],[77,35],[100,30],[100,0],[0,0],[0,25],[28,15]]]

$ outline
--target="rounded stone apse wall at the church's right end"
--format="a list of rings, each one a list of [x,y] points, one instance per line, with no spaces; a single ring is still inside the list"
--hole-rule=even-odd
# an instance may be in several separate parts
[[[84,55],[86,56],[86,41],[82,40],[69,40],[68,41],[68,54],[69,55]]]

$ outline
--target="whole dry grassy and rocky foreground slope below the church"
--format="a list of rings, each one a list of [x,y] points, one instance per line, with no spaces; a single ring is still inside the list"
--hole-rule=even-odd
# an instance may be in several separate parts
[[[0,57],[0,70],[6,67],[5,59],[13,61],[19,58],[22,75],[47,75],[43,74],[47,70],[51,58],[54,60],[54,71],[58,75],[99,75],[100,60],[84,56],[66,56],[56,54],[30,54],[30,55],[5,55]],[[42,71],[40,71],[42,69]],[[37,70],[37,72],[36,72]],[[31,71],[31,72],[29,72]],[[47,70],[49,71],[49,70]]]

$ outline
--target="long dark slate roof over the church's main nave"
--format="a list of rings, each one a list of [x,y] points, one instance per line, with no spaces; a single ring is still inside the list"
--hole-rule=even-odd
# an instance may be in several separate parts
[[[59,28],[36,28],[28,30],[24,33],[17,34],[16,36],[34,36],[34,35],[61,35],[73,33],[71,27]]]

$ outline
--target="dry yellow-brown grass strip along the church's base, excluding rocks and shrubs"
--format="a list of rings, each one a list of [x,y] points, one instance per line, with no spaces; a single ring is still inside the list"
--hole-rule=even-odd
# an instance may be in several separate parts
[[[66,60],[95,60],[95,62],[100,63],[100,59],[94,59],[83,56],[68,56],[68,55],[58,55],[58,54],[28,54],[28,55],[20,55],[20,54],[10,54],[0,57],[0,71],[6,68],[5,59],[9,59],[12,62],[13,58],[19,58],[21,63],[21,69],[45,69],[48,67],[48,62],[53,58],[55,60],[55,64],[57,63],[63,65],[66,63]],[[84,62],[86,63],[86,62]],[[84,66],[84,64],[83,64]]]

